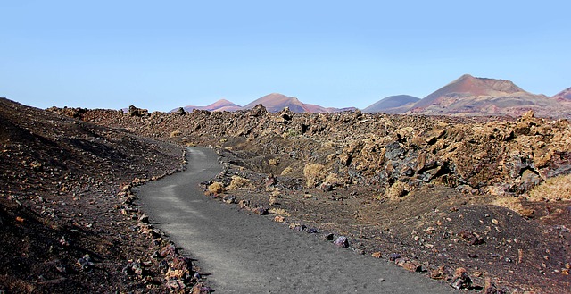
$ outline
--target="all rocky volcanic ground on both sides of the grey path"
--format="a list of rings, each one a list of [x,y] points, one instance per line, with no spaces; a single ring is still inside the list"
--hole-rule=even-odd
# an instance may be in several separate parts
[[[571,290],[566,120],[51,109],[75,121],[2,103],[2,290],[199,282],[121,189],[180,167],[165,141],[217,148],[225,190],[212,195],[293,230],[346,236],[357,253],[458,288]]]

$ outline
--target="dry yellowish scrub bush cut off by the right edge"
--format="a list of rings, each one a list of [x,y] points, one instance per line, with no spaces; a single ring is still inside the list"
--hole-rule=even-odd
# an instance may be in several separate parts
[[[571,199],[571,174],[547,179],[529,191],[529,201]]]

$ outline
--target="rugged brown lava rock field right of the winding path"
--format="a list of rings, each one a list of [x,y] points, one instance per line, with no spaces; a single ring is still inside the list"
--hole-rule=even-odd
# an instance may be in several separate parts
[[[271,208],[294,230],[347,236],[360,253],[459,288],[571,290],[570,203],[529,201],[535,186],[571,172],[565,120],[533,113],[268,113],[263,107],[236,113],[51,111],[149,138],[216,147],[227,161],[226,172],[214,179],[227,187],[221,199],[248,200],[242,205],[253,212]],[[232,185],[233,176],[249,184]],[[471,284],[459,282],[467,277]]]

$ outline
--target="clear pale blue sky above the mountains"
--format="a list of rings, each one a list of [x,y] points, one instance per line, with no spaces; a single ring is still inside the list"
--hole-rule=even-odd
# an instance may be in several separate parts
[[[0,0],[0,97],[169,111],[272,92],[364,108],[464,73],[571,87],[568,1]]]

